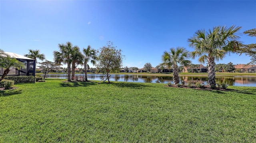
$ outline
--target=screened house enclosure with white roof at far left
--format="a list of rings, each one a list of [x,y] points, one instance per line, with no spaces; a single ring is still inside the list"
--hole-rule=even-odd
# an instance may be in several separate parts
[[[8,75],[36,75],[36,62],[34,59],[21,56],[12,52],[4,52],[10,55],[11,58],[16,58],[18,61],[23,62],[25,64],[24,68],[20,68],[20,70],[16,68],[10,69]],[[0,75],[3,75],[4,68],[0,67]]]

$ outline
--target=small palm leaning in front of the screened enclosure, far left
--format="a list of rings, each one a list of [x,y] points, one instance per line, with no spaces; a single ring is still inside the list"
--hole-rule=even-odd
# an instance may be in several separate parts
[[[5,69],[2,77],[0,78],[0,81],[2,81],[4,77],[9,73],[10,68],[17,68],[19,70],[20,67],[24,68],[25,64],[22,62],[19,62],[15,58],[11,58],[10,55],[6,55],[4,57],[1,57],[0,67]]]

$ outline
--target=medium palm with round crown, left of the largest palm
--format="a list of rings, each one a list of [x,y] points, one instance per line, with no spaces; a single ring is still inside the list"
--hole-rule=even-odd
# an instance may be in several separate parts
[[[191,64],[189,52],[185,48],[170,48],[170,52],[165,51],[162,55],[161,66],[172,67],[174,85],[180,83],[178,66],[189,66]]]

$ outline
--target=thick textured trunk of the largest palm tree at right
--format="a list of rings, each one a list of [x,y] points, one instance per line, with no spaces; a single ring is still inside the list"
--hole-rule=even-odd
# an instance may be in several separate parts
[[[207,58],[207,66],[208,66],[208,83],[210,87],[216,86],[215,81],[215,58],[208,56]]]

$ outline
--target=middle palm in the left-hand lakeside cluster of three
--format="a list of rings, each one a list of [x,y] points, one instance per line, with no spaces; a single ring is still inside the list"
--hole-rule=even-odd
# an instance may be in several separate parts
[[[84,56],[83,54],[80,52],[80,48],[78,46],[74,46],[73,47],[73,51],[72,51],[72,75],[71,75],[71,79],[74,80],[75,79],[75,68],[76,68],[76,64],[83,64],[84,60]]]

